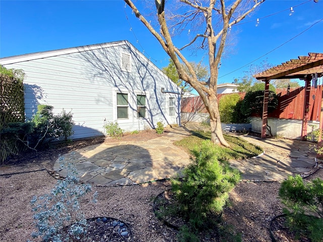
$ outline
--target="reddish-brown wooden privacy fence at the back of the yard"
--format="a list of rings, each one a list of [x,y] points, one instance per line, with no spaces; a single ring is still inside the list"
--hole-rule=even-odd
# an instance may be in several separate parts
[[[243,99],[245,93],[238,93]],[[276,89],[278,98],[277,109],[268,114],[268,117],[286,118],[286,119],[302,119],[303,118],[303,107],[304,107],[304,87],[291,88],[288,92],[287,88]],[[227,94],[218,94],[218,99]],[[318,121],[320,115],[320,105],[322,98],[322,85],[310,87],[309,91],[309,103],[306,105],[309,109],[308,120]],[[207,113],[204,107],[203,101],[199,96],[196,97],[185,97],[182,99],[181,112],[198,112]]]

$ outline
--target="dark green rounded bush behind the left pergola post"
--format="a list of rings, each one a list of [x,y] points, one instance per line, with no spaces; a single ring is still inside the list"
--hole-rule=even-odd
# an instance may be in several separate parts
[[[274,91],[269,91],[268,95],[268,113],[273,112],[278,106],[278,96]],[[255,113],[259,116],[262,115],[263,110],[263,91],[247,92],[242,104],[241,113],[250,116]]]

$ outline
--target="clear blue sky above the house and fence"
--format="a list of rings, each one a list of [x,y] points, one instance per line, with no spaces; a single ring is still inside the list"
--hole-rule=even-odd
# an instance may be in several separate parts
[[[122,0],[1,0],[0,21],[0,57],[128,40],[157,67],[169,63],[167,54]],[[267,0],[230,33],[231,47],[222,59],[220,84],[243,76],[250,63],[267,59],[276,66],[308,52],[323,52],[323,0]],[[187,31],[177,41],[182,44],[191,38]],[[202,58],[190,50],[186,54],[189,61]]]

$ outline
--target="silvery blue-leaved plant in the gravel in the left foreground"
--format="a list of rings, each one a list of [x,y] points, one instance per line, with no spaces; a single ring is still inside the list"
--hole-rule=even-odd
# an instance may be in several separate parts
[[[50,194],[33,197],[31,200],[34,224],[37,231],[31,235],[42,241],[67,242],[83,241],[87,233],[87,221],[82,213],[79,199],[91,191],[89,184],[80,184],[71,164],[65,167],[64,157],[60,157],[62,168],[68,174],[58,180]],[[93,202],[96,202],[96,193]]]

